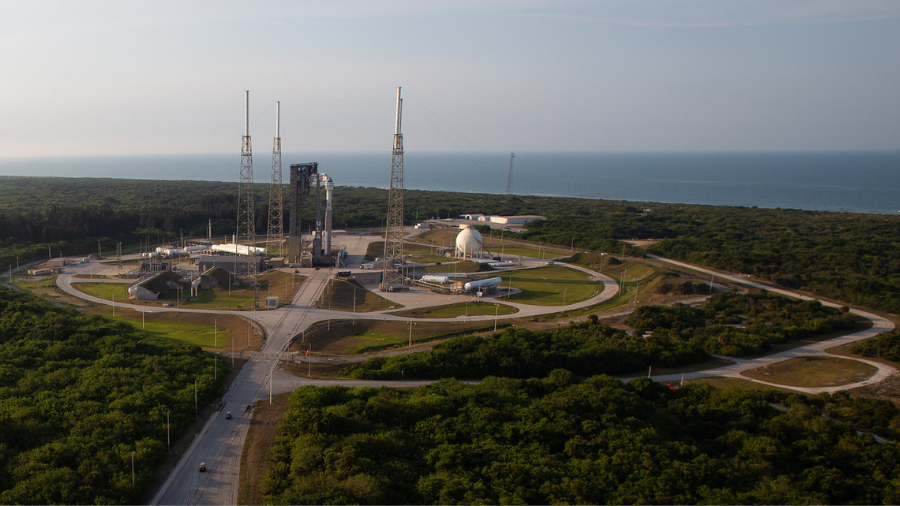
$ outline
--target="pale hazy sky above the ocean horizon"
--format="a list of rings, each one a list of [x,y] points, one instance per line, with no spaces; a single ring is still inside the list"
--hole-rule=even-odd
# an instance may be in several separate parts
[[[0,157],[900,149],[897,0],[0,0]]]

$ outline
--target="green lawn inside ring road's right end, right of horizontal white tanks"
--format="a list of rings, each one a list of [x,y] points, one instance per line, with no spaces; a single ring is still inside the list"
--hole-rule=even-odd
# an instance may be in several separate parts
[[[560,265],[548,265],[505,273],[503,281],[521,290],[510,301],[536,306],[562,306],[587,300],[603,288],[602,283],[592,281],[587,274]],[[503,294],[503,290],[500,289]]]

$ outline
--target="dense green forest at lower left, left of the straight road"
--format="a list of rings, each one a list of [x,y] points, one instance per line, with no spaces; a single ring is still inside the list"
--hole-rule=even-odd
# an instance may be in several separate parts
[[[136,504],[167,453],[167,414],[175,440],[195,381],[201,406],[220,393],[216,360],[0,289],[0,503]]]

